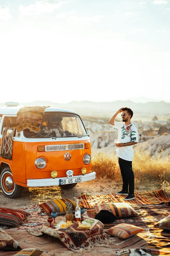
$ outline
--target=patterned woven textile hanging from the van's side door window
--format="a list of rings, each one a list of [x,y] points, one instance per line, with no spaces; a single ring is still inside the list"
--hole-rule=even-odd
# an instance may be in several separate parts
[[[16,128],[6,127],[2,132],[1,157],[12,160],[13,138],[7,137],[7,130],[13,130],[15,134]]]

